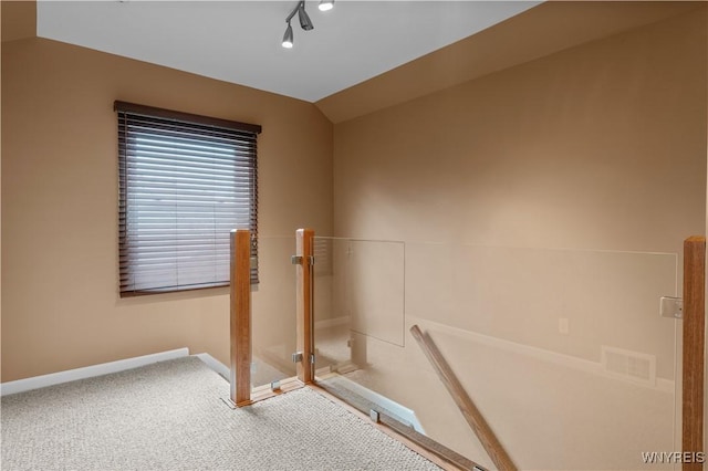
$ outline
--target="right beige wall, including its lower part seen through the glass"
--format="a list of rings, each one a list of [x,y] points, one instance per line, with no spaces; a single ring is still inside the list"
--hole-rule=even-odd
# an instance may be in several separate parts
[[[335,234],[406,241],[402,323],[430,332],[520,469],[678,449],[658,297],[680,255],[612,251],[680,254],[705,232],[706,24],[704,7],[335,124]],[[492,465],[409,335],[353,335],[357,380]],[[608,375],[603,346],[654,357],[656,381]]]

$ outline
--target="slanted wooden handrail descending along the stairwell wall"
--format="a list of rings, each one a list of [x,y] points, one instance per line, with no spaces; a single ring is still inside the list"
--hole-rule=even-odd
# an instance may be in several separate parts
[[[413,337],[418,342],[418,345],[420,345],[423,353],[430,360],[435,373],[437,373],[448,393],[452,396],[452,400],[457,404],[457,407],[460,409],[460,412],[462,412],[465,420],[467,420],[467,423],[469,423],[475,431],[475,435],[482,447],[485,447],[487,454],[489,454],[489,458],[491,458],[494,465],[500,471],[516,471],[517,467],[511,461],[511,458],[509,458],[509,454],[497,439],[497,436],[491,430],[479,409],[477,409],[472,399],[465,391],[465,388],[455,376],[455,373],[452,373],[452,369],[447,364],[445,357],[442,357],[430,336],[424,334],[417,325],[410,327],[410,334],[413,334]]]

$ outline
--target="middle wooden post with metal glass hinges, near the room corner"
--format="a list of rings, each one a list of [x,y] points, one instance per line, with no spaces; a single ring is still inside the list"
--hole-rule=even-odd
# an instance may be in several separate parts
[[[314,231],[298,229],[295,232],[296,263],[296,332],[298,352],[302,360],[298,363],[298,379],[304,384],[314,381],[313,341],[313,289],[314,279]]]

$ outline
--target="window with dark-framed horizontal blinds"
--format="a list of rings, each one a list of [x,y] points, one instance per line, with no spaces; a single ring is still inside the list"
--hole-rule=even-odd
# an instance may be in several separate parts
[[[114,107],[121,296],[228,285],[232,229],[251,230],[257,255],[261,127],[124,102]]]

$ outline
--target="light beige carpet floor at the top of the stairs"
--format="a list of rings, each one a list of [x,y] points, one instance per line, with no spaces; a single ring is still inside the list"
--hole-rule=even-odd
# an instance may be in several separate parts
[[[309,388],[240,409],[194,357],[6,396],[8,470],[439,470]]]

